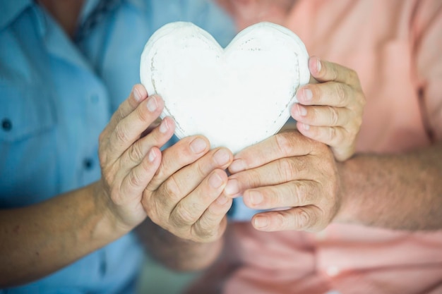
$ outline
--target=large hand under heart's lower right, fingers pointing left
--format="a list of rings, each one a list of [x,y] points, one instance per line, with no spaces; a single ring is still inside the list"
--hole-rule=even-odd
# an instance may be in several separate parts
[[[261,212],[252,224],[261,231],[321,231],[340,209],[340,178],[327,145],[291,130],[235,155],[227,197],[243,195]]]

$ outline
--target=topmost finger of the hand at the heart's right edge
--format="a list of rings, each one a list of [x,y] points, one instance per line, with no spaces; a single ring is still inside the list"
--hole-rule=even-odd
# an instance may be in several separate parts
[[[342,82],[347,85],[360,85],[357,73],[350,68],[338,63],[324,61],[316,56],[309,59],[310,73],[318,82]]]

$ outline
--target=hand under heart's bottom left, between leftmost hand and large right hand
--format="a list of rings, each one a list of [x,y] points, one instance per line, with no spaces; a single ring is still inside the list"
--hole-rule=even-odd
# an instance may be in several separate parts
[[[150,219],[179,238],[199,243],[220,238],[232,206],[232,199],[222,195],[232,160],[229,149],[210,150],[202,136],[185,137],[165,149],[143,195]]]

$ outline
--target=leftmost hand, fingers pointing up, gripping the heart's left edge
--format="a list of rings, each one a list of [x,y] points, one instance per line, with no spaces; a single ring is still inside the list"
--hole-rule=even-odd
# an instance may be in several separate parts
[[[102,191],[97,193],[104,192],[108,197],[110,211],[125,231],[145,219],[141,204],[143,192],[160,166],[159,148],[174,133],[170,118],[165,118],[155,128],[150,127],[160,116],[163,106],[160,97],[148,97],[143,85],[135,85],[100,135]]]

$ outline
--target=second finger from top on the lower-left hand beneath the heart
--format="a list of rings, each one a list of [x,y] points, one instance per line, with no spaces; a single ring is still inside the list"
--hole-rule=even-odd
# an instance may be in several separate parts
[[[163,161],[164,158],[163,155]],[[210,172],[215,169],[224,170],[232,162],[232,158],[233,154],[229,149],[213,149],[193,164],[189,164],[169,176],[157,189],[160,195],[167,195],[167,197],[159,199],[165,212],[172,212],[175,205],[195,190],[208,177]],[[215,181],[216,177],[213,176],[210,179]],[[209,181],[209,183],[213,182]]]

